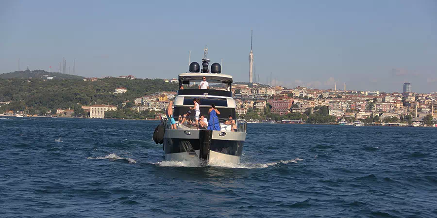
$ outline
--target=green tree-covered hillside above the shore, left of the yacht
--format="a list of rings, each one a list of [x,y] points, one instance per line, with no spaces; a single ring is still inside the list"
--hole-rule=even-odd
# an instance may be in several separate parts
[[[126,93],[114,94],[118,87],[128,89]],[[136,97],[162,92],[177,91],[178,85],[163,79],[104,78],[98,81],[78,79],[21,79],[0,78],[0,105],[5,110],[77,108],[82,105],[121,105],[123,101],[133,101]]]

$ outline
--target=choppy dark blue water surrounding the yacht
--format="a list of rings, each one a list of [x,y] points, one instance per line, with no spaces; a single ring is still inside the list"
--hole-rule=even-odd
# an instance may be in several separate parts
[[[198,167],[157,124],[0,118],[0,217],[437,217],[437,128],[249,124]]]

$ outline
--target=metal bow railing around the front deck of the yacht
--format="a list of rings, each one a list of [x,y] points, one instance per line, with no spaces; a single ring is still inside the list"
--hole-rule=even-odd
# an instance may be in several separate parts
[[[196,126],[195,119],[195,116],[175,117],[176,129],[207,129],[207,127]],[[218,123],[220,124],[220,131],[246,132],[247,130],[246,120],[218,118]],[[166,129],[173,129],[173,126],[170,125],[167,118],[163,118],[161,124],[164,125]],[[234,129],[233,127],[236,128]]]

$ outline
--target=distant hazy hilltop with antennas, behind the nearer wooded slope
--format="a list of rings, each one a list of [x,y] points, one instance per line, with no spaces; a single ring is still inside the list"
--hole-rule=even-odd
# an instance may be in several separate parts
[[[57,72],[47,72],[45,70],[24,70],[24,71],[15,71],[11,73],[0,74],[0,78],[8,79],[8,78],[39,78],[39,79],[47,79],[47,77],[52,77],[53,79],[82,79],[84,77],[70,75],[70,74],[61,74]]]

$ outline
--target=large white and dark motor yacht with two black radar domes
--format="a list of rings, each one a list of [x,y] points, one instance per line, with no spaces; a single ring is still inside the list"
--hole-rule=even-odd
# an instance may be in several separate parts
[[[205,47],[202,69],[198,62],[191,62],[189,72],[178,75],[179,87],[182,88],[178,90],[173,101],[173,119],[176,128],[170,125],[168,118],[163,118],[161,121],[161,126],[165,129],[163,137],[162,139],[159,137],[158,126],[153,138],[156,143],[163,144],[166,160],[199,161],[201,165],[216,161],[238,164],[246,140],[247,122],[235,119],[233,77],[221,74],[221,66],[217,62],[211,64],[209,69],[210,60],[207,57]],[[209,84],[208,89],[199,89],[199,82],[203,77]],[[195,98],[200,101],[200,116],[203,115],[208,121],[210,121],[208,110],[212,108],[212,104],[215,105],[220,114],[217,115],[219,124],[214,123],[215,126],[219,125],[219,129],[216,127],[213,128],[214,130],[208,130],[195,125],[195,110],[192,110],[195,107]],[[231,122],[235,124],[227,123],[229,115],[233,118]],[[210,125],[208,124],[208,127]]]

